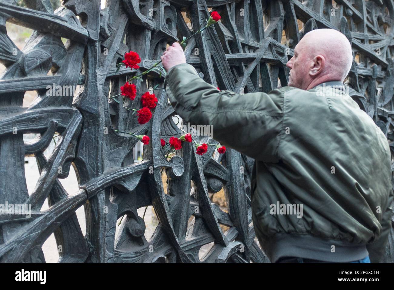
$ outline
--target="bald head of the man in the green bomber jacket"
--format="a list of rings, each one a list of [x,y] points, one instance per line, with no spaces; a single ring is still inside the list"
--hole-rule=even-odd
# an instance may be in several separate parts
[[[343,82],[352,61],[351,45],[344,34],[335,29],[312,30],[296,45],[286,64],[290,68],[288,86],[309,90],[322,82]]]

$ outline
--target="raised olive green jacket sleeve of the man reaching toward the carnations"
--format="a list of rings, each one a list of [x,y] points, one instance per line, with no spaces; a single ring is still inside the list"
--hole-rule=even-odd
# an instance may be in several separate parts
[[[219,91],[189,64],[172,67],[165,90],[171,105],[190,125],[212,125],[215,140],[257,160],[277,162],[284,93]]]

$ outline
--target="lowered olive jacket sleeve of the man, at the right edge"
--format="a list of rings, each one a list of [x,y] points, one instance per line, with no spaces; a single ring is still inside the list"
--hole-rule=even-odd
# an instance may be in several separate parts
[[[374,239],[371,243],[366,245],[369,258],[372,263],[381,262],[383,255],[385,254],[386,244],[388,241],[388,235],[392,229],[391,217],[393,215],[392,203],[393,203],[393,191],[390,191],[390,195],[388,197],[387,208],[383,211],[382,219],[380,224],[382,226],[381,234]]]

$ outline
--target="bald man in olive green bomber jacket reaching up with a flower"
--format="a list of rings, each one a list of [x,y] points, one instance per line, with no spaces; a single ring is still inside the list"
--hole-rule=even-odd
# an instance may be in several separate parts
[[[313,30],[287,63],[288,86],[240,95],[204,82],[178,43],[162,56],[165,90],[184,122],[213,125],[215,140],[255,159],[253,226],[271,262],[382,258],[390,148],[343,85],[352,60],[343,34]]]

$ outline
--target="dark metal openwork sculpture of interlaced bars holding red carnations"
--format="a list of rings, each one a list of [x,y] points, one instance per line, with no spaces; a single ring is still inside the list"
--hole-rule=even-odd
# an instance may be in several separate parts
[[[117,71],[125,52],[139,53],[141,70],[151,67],[167,44],[191,35],[185,19],[196,31],[208,18],[208,8],[219,11],[221,22],[191,39],[185,51],[204,80],[245,93],[286,86],[285,64],[301,37],[315,28],[335,28],[348,37],[355,53],[347,79],[351,97],[390,144],[394,140],[392,0],[107,0],[104,9],[99,0],[64,0],[56,11],[49,0],[15,4],[0,0],[0,62],[6,66],[0,80],[0,204],[32,204],[33,212],[30,218],[0,215],[1,262],[45,262],[41,246],[52,233],[63,248],[59,262],[268,262],[251,224],[253,160],[230,149],[224,155],[211,149],[199,156],[190,143],[167,160],[169,149],[162,149],[160,138],[183,132],[172,119],[175,112],[164,90],[155,91],[158,106],[145,125],[124,108],[138,108],[139,96],[162,84],[156,72],[136,82],[134,101],[108,100],[119,94],[126,76],[138,73],[124,67]],[[7,35],[6,21],[34,30],[22,51]],[[61,37],[68,39],[66,45]],[[78,91],[74,98],[50,96],[52,84],[78,86]],[[29,90],[38,96],[24,108]],[[133,160],[137,139],[115,129],[151,137],[143,161]],[[40,135],[25,144],[23,134],[28,133]],[[47,160],[43,151],[54,134],[60,141]],[[30,196],[25,155],[35,156],[41,174]],[[59,182],[71,165],[80,185],[73,195]],[[228,213],[208,196],[222,187]],[[41,211],[46,198],[50,208]],[[159,219],[149,240],[137,213],[147,205]],[[75,214],[81,206],[85,236]],[[229,230],[223,232],[220,225]],[[199,249],[212,242],[200,260]],[[394,262],[393,231],[385,262]]]

